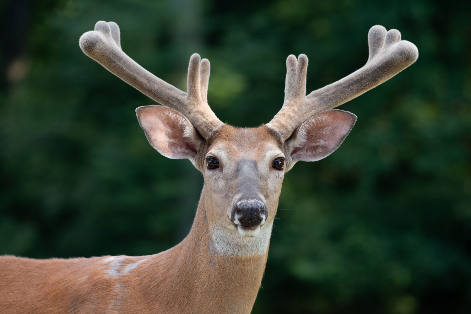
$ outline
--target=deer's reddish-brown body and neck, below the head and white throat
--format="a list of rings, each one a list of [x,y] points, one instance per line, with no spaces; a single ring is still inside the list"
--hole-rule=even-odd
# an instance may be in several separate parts
[[[0,313],[250,313],[267,255],[268,246],[251,256],[219,254],[200,202],[187,237],[158,254],[0,258]]]

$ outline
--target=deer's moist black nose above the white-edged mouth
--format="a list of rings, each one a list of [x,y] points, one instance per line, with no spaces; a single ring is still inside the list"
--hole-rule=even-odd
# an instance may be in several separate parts
[[[263,219],[267,219],[267,210],[259,200],[238,201],[233,209],[232,218],[245,227],[255,227],[260,225]]]

